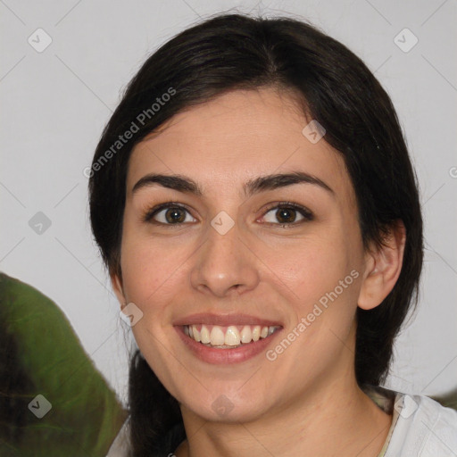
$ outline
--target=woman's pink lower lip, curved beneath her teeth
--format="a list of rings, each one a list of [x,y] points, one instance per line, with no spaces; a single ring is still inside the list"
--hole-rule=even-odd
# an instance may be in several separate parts
[[[201,361],[214,364],[238,363],[252,359],[262,353],[278,336],[282,328],[276,330],[270,337],[261,338],[247,345],[240,345],[233,349],[217,349],[198,343],[195,339],[187,337],[182,326],[176,326],[176,331],[183,343]]]

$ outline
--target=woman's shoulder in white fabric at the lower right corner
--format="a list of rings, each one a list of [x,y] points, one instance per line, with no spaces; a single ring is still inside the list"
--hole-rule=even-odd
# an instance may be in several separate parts
[[[395,393],[394,410],[395,428],[386,457],[457,455],[457,411],[428,396],[399,392]]]

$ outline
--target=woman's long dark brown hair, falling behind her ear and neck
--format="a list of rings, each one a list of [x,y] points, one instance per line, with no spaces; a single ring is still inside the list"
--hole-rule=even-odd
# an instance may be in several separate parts
[[[394,289],[378,307],[357,310],[355,375],[360,386],[378,385],[386,379],[395,336],[417,302],[423,255],[417,179],[386,91],[361,59],[312,25],[221,14],[184,30],[148,57],[96,147],[89,172],[96,242],[110,272],[121,276],[127,168],[142,138],[178,112],[228,90],[267,86],[294,94],[303,114],[325,127],[325,140],[344,157],[364,246],[381,245],[396,220],[406,228],[403,269]],[[158,98],[163,104],[154,107]],[[132,139],[120,144],[119,136],[134,130],[132,122]],[[182,426],[176,400],[138,354],[130,366],[129,409],[136,456],[154,455],[160,438]]]

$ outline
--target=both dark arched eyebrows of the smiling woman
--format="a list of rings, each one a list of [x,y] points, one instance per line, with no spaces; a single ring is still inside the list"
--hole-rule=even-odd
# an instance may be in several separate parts
[[[312,184],[321,187],[332,195],[335,194],[333,189],[324,181],[303,171],[277,173],[250,179],[243,185],[243,191],[245,196],[249,197],[260,192],[277,189],[279,187],[292,186],[294,184]],[[141,188],[152,187],[154,185],[197,196],[204,195],[201,187],[198,186],[194,179],[183,175],[163,175],[154,173],[147,174],[139,179],[137,184],[132,188],[132,194],[135,194]]]

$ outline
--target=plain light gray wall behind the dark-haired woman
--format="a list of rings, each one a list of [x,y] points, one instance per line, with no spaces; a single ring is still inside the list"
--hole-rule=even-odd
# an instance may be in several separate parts
[[[58,303],[125,399],[131,335],[87,217],[83,170],[145,57],[214,12],[301,16],[358,54],[392,97],[420,179],[426,262],[418,312],[395,346],[387,385],[435,395],[457,386],[457,2],[0,0],[0,270]],[[43,52],[28,39],[45,36]],[[405,53],[405,28],[419,42]],[[40,33],[37,37],[37,33]],[[397,40],[411,45],[413,37]],[[35,46],[38,46],[36,43]],[[52,225],[37,234],[29,220]]]

